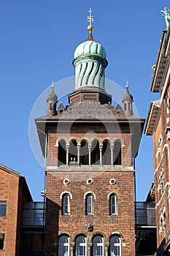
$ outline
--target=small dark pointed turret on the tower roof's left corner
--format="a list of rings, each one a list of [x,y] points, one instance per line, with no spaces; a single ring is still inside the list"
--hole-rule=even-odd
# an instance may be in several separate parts
[[[54,82],[52,83],[51,88],[52,88],[52,91],[47,97],[47,104],[48,104],[47,116],[56,115],[56,104],[58,102],[58,97],[54,92]]]

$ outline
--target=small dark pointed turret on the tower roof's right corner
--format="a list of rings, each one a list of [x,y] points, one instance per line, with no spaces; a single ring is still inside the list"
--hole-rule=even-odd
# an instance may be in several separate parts
[[[123,95],[123,105],[124,105],[124,112],[125,112],[125,115],[126,116],[132,116],[133,115],[133,96],[129,93],[128,91],[128,81],[126,82],[126,92],[125,94]]]

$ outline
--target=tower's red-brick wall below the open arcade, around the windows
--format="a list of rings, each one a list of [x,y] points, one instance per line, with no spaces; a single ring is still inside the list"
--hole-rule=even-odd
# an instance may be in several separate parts
[[[77,175],[82,175],[79,173]],[[64,174],[63,174],[64,177]],[[46,208],[46,230],[45,230],[45,255],[57,255],[57,247],[54,243],[61,233],[67,233],[71,242],[74,242],[77,234],[83,233],[88,241],[95,233],[104,235],[104,242],[109,242],[112,233],[118,233],[123,238],[125,246],[122,247],[123,255],[135,255],[134,249],[134,173],[133,172],[106,172],[94,178],[86,173],[86,179],[93,177],[93,184],[86,184],[84,181],[75,181],[70,178],[70,184],[63,184],[63,179],[58,178],[58,173],[47,173],[47,208]],[[73,178],[72,178],[73,177]],[[82,177],[80,177],[81,179]],[[110,185],[110,178],[116,178],[117,183]],[[71,192],[70,215],[61,214],[62,192]],[[94,200],[94,216],[85,215],[86,192],[93,192],[96,195]],[[109,193],[114,192],[118,197],[118,214],[109,216]],[[85,225],[93,222],[93,233],[88,233]]]

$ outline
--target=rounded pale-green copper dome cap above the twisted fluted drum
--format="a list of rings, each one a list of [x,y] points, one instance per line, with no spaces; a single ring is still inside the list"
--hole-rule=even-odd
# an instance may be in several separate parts
[[[74,52],[74,59],[86,54],[96,54],[106,58],[106,52],[101,44],[95,41],[85,41],[77,46]]]

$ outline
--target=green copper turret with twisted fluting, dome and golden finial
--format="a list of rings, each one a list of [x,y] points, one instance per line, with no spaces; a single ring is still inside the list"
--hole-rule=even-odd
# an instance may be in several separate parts
[[[106,51],[99,42],[94,41],[93,31],[93,12],[88,11],[88,39],[77,46],[74,51],[73,65],[75,67],[75,89],[82,87],[98,87],[105,90],[105,68],[107,67]]]

